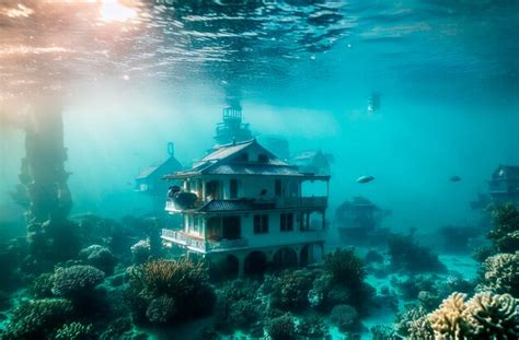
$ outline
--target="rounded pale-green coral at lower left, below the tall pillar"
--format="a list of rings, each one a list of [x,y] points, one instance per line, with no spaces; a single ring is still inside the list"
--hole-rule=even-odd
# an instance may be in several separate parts
[[[81,296],[88,294],[103,280],[104,272],[92,266],[57,268],[53,274],[51,291],[58,296]]]

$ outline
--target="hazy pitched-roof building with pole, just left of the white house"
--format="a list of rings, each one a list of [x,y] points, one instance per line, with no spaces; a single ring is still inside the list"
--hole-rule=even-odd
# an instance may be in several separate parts
[[[160,197],[161,202],[163,201],[168,194],[168,186],[171,185],[163,180],[164,175],[182,169],[182,164],[175,159],[172,142],[168,144],[168,153],[170,156],[166,160],[146,167],[135,178],[136,191]]]

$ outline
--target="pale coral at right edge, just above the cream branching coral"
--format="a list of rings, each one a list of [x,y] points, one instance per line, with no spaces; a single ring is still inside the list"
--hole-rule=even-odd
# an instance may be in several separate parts
[[[487,258],[483,263],[483,290],[519,296],[519,251]]]

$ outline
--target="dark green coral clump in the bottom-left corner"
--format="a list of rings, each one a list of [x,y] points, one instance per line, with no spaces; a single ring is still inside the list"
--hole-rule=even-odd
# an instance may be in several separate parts
[[[70,319],[72,303],[65,298],[22,302],[14,308],[4,339],[45,339]]]

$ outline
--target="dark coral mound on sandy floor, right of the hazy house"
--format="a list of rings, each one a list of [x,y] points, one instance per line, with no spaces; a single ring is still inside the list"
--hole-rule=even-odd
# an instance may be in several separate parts
[[[388,239],[388,253],[394,270],[445,272],[447,268],[430,249],[416,244],[412,235],[394,234]]]

